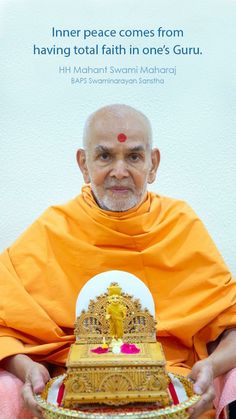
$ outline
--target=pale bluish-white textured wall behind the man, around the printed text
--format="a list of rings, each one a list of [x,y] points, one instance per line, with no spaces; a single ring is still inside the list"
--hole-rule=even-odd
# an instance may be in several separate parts
[[[75,152],[83,123],[100,106],[126,103],[151,119],[162,154],[160,194],[187,200],[236,273],[235,0],[1,0],[2,128],[0,248],[49,205],[77,195]],[[57,28],[181,28],[182,39],[127,39],[124,45],[200,46],[200,56],[34,56]],[[177,41],[177,42],[176,42]],[[120,43],[120,40],[88,41]],[[59,66],[177,68],[164,85],[71,85]],[[150,77],[150,76],[149,76]]]

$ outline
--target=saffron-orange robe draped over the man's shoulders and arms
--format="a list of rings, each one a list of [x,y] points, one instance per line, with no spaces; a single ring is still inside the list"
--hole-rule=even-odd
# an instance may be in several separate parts
[[[207,356],[207,342],[236,326],[236,283],[205,227],[185,202],[154,193],[118,213],[99,208],[85,186],[49,208],[0,264],[0,359],[25,353],[63,365],[78,293],[109,270],[149,287],[172,367],[191,368]]]

